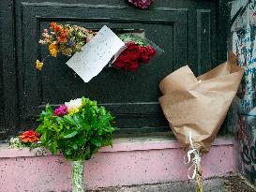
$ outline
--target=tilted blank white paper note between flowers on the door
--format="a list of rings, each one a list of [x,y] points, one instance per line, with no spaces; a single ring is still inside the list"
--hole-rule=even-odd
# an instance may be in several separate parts
[[[125,43],[117,37],[106,25],[98,34],[86,43],[82,52],[76,52],[67,62],[84,82],[90,81],[106,66],[113,55],[118,52]]]

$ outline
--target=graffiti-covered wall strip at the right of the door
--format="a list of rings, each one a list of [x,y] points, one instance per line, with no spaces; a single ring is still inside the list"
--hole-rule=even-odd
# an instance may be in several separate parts
[[[239,2],[240,7],[235,7]],[[237,15],[232,25],[231,50],[239,66],[245,68],[237,97],[239,102],[237,134],[240,170],[256,184],[256,0],[234,1]],[[238,10],[240,12],[238,12]],[[232,12],[234,12],[232,10]]]

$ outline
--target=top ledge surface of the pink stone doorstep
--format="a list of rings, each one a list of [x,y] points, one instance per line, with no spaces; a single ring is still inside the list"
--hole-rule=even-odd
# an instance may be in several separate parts
[[[234,139],[232,136],[218,137],[213,146],[233,146]],[[113,140],[113,147],[103,147],[98,153],[115,153],[130,151],[148,151],[164,149],[182,149],[182,145],[172,137],[168,136],[150,136],[134,138],[116,138]],[[8,143],[0,143],[0,158],[37,156],[38,150],[32,152],[27,148],[23,150],[8,149]],[[51,155],[50,152],[44,155]]]

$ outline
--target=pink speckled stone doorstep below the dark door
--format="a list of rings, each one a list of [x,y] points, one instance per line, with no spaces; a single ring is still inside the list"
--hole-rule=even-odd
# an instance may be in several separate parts
[[[210,153],[203,155],[204,179],[233,172],[234,152],[233,138],[215,140]],[[178,141],[168,137],[115,139],[113,148],[102,148],[85,162],[84,181],[88,189],[186,181],[184,155]],[[0,145],[0,191],[67,191],[70,173],[70,163],[61,155]]]

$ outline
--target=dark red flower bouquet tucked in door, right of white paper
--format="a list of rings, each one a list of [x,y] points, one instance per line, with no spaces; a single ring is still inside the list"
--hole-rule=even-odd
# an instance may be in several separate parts
[[[156,55],[158,46],[152,46],[149,40],[135,35],[119,36],[126,44],[113,60],[113,66],[128,71],[136,71],[139,66],[146,65]],[[159,48],[158,48],[159,50]]]

